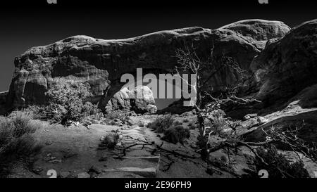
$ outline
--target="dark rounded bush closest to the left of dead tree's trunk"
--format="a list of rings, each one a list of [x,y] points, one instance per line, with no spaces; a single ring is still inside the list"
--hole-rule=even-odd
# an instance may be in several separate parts
[[[170,127],[164,131],[163,140],[170,143],[183,143],[184,139],[188,139],[190,136],[189,129],[185,129],[182,125],[176,125]]]

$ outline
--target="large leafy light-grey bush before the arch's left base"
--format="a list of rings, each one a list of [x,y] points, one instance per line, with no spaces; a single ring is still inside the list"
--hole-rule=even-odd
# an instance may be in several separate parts
[[[98,113],[97,106],[85,102],[86,98],[92,96],[89,84],[58,79],[46,92],[46,96],[49,98],[49,105],[42,111],[54,122],[69,125],[71,121],[77,122]]]

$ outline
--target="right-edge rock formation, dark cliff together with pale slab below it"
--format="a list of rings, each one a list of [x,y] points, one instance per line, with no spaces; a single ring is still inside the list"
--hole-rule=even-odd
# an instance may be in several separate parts
[[[265,124],[247,129],[247,141],[265,141],[262,131],[297,128],[298,136],[317,141],[317,20],[294,27],[268,41],[251,63],[256,93],[263,102]]]

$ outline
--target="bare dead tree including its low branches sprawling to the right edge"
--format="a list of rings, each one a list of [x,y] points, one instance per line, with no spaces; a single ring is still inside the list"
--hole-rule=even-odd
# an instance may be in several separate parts
[[[301,128],[287,128],[284,131],[280,131],[276,127],[271,127],[271,129],[263,132],[266,134],[266,141],[263,142],[244,142],[242,139],[238,139],[238,136],[235,135],[235,129],[237,124],[228,124],[228,127],[231,127],[233,134],[231,137],[228,137],[225,141],[218,143],[217,146],[209,146],[209,138],[211,132],[206,132],[205,121],[211,122],[213,124],[213,118],[211,118],[210,113],[215,110],[220,110],[223,105],[247,105],[249,103],[260,103],[254,98],[241,98],[237,96],[238,90],[244,85],[244,78],[246,74],[244,70],[240,68],[238,63],[228,56],[222,56],[221,58],[216,58],[213,56],[213,47],[211,48],[210,55],[203,59],[198,56],[194,51],[193,47],[185,46],[184,49],[177,49],[176,58],[178,59],[179,66],[175,68],[176,72],[182,78],[183,73],[195,74],[197,75],[197,85],[194,87],[197,91],[197,103],[194,105],[194,109],[197,115],[197,121],[199,122],[199,138],[202,142],[200,146],[201,157],[210,162],[209,153],[218,151],[223,148],[235,149],[235,151],[244,146],[249,148],[249,150],[254,153],[255,157],[261,164],[268,166],[268,162],[263,160],[261,155],[258,154],[256,148],[265,147],[274,145],[276,143],[282,143],[285,146],[288,146],[294,153],[296,153],[301,160],[299,153],[302,153],[306,158],[310,158],[314,162],[317,160],[317,143],[306,142],[303,139],[300,139],[298,133]],[[218,65],[217,65],[218,64]],[[225,87],[224,91],[221,91],[218,96],[215,96],[211,91],[213,87],[206,91],[206,85],[210,79],[213,79],[221,70],[224,69],[230,70],[233,77],[236,79],[235,87]],[[208,71],[209,75],[202,78],[204,71]],[[206,73],[205,73],[206,74]],[[183,79],[184,80],[184,79]],[[187,82],[188,83],[188,82]],[[193,87],[194,85],[189,84],[188,86]],[[202,105],[202,99],[209,98],[209,102],[205,105]],[[282,175],[287,175],[287,173],[277,167],[278,171]]]

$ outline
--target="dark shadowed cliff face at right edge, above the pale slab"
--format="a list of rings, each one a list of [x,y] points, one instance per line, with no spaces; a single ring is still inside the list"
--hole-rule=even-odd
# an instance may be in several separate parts
[[[285,37],[270,40],[251,63],[256,97],[271,105],[287,101],[317,83],[317,20],[294,27]]]

